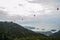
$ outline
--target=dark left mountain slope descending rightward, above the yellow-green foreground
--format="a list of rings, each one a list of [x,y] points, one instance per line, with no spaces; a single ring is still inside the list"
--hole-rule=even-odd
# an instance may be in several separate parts
[[[13,22],[0,22],[0,40],[12,40],[12,38],[22,38],[22,37],[41,37],[47,38],[43,34],[35,33],[31,30],[23,28]]]

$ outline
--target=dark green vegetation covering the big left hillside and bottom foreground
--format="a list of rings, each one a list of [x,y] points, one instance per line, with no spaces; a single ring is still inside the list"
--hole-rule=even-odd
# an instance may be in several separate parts
[[[35,33],[13,22],[0,22],[0,40],[60,40]]]

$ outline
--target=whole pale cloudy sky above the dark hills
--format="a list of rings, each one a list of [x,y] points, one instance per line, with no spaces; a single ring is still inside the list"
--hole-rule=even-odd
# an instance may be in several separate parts
[[[34,31],[60,30],[57,8],[60,0],[0,0],[0,21],[35,27]]]

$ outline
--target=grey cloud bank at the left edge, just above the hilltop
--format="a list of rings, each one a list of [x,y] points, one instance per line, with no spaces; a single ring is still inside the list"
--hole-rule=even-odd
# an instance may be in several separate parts
[[[16,20],[16,21],[18,21],[18,20],[21,20],[22,19],[22,17],[20,16],[20,15],[13,15],[13,16],[10,16],[9,14],[8,14],[8,12],[7,11],[4,11],[4,10],[0,10],[0,20],[4,20],[4,21],[6,21],[6,20]]]

